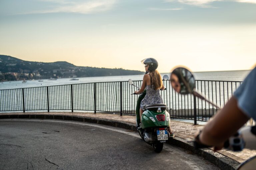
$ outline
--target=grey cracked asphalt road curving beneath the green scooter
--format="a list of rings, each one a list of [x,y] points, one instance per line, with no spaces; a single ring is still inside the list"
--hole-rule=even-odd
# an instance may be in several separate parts
[[[60,120],[0,120],[0,169],[218,169],[182,148],[161,153],[138,133]]]

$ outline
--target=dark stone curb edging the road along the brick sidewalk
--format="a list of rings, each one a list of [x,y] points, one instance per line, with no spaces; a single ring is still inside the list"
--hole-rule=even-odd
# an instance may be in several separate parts
[[[95,124],[108,125],[112,127],[125,128],[128,130],[137,131],[136,126],[132,123],[117,121],[117,120],[113,121],[113,120],[100,119],[100,118],[91,118],[91,117],[22,114],[22,115],[0,115],[0,119],[58,119],[58,120],[95,123]],[[239,166],[240,164],[238,161],[235,161],[218,152],[214,152],[209,148],[195,149],[192,143],[188,143],[185,139],[182,139],[179,137],[174,137],[173,139],[169,140],[167,143],[184,148],[186,150],[191,151],[194,154],[202,156],[204,159],[212,162],[222,170],[235,170],[237,166]]]

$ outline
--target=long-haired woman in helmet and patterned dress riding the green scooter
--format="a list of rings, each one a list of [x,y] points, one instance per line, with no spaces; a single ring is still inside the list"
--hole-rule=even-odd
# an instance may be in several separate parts
[[[156,70],[158,67],[157,60],[154,58],[146,58],[141,62],[145,64],[146,74],[143,76],[141,88],[134,93],[141,94],[145,90],[145,88],[147,93],[140,104],[140,120],[143,112],[146,109],[146,105],[163,103],[163,99],[160,95],[160,89],[164,90],[161,75]],[[170,126],[168,127],[168,132],[170,133],[170,137],[174,137],[174,133],[171,130]]]

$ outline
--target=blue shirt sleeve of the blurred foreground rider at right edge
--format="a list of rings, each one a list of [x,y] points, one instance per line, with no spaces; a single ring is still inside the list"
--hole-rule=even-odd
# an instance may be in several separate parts
[[[256,67],[234,92],[234,96],[241,111],[256,120]]]

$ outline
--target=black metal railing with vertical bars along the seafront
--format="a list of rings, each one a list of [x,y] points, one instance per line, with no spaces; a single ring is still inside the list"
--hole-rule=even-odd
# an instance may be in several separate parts
[[[142,81],[133,81],[140,87]],[[218,109],[195,96],[176,93],[169,80],[160,91],[173,118],[208,121]],[[241,81],[196,80],[196,90],[223,107]],[[137,88],[127,81],[57,85],[0,90],[0,112],[13,111],[92,111],[135,114]]]

